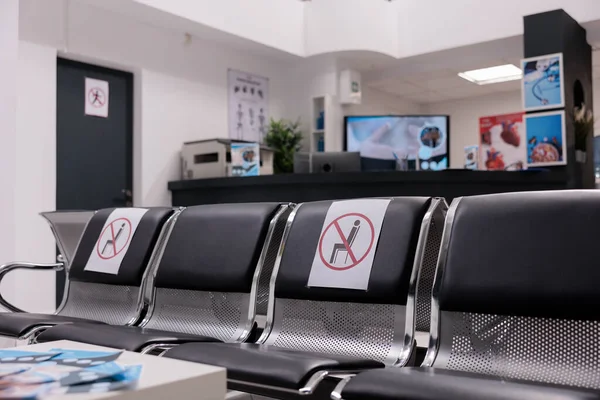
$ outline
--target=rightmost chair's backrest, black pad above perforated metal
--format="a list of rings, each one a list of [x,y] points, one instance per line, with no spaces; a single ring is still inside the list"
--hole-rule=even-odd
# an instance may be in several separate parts
[[[425,366],[600,389],[600,192],[456,199]]]

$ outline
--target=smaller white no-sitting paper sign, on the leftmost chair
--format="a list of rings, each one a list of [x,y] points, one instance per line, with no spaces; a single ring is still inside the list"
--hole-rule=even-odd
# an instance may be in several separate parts
[[[117,275],[146,208],[119,208],[110,213],[84,271]]]

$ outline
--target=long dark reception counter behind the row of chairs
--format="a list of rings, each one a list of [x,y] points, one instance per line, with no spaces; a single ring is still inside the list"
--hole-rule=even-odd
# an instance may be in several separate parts
[[[305,201],[378,196],[455,197],[567,189],[557,171],[351,172],[215,178],[169,182],[174,206],[257,201]]]

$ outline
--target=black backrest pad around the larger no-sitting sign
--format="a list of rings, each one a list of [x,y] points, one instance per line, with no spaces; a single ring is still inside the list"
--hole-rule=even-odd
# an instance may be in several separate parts
[[[368,290],[308,287],[323,223],[334,201],[304,203],[289,232],[275,284],[275,297],[405,305],[428,197],[392,198],[373,259]]]

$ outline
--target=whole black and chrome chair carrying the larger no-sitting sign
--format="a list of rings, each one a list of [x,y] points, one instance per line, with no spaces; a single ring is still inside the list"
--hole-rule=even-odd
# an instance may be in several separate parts
[[[333,202],[304,203],[286,225],[258,343],[190,343],[164,356],[225,367],[230,389],[269,396],[313,394],[328,376],[409,364],[417,275],[423,262],[435,263],[439,241],[428,233],[443,223],[446,206],[424,197],[390,200],[366,291],[307,286]]]

